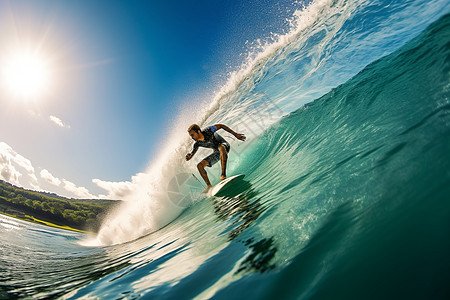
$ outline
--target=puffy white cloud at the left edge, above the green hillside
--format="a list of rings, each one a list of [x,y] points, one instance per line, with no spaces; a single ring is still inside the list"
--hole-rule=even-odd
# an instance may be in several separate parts
[[[22,172],[24,174],[22,174]],[[14,151],[11,146],[0,142],[0,178],[15,185],[21,185],[20,177],[27,176],[28,185],[39,189],[31,161]]]

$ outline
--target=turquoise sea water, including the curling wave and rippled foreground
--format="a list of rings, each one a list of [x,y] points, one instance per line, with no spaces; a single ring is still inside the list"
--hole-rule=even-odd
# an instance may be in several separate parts
[[[0,298],[449,299],[449,4],[324,3],[205,115],[247,128],[237,195],[96,247],[0,216]]]

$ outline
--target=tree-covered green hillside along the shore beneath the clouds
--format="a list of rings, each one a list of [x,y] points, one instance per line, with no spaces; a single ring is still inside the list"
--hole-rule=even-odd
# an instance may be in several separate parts
[[[59,225],[56,227],[60,228],[96,232],[108,211],[120,202],[67,199],[26,190],[0,180],[0,213],[45,225]]]

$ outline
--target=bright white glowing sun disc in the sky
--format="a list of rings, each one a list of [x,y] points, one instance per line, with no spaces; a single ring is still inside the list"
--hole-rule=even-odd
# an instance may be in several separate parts
[[[18,99],[41,97],[50,84],[50,70],[36,53],[17,52],[5,59],[2,68],[4,87]]]

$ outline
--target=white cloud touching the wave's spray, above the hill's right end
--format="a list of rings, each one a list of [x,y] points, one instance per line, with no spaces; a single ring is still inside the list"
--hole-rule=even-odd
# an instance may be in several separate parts
[[[131,195],[140,183],[143,181],[148,182],[147,174],[138,173],[131,178],[130,181],[112,182],[103,181],[100,179],[92,179],[98,187],[106,190],[108,195],[100,195],[101,198],[111,199],[111,200],[125,200],[125,198]]]

